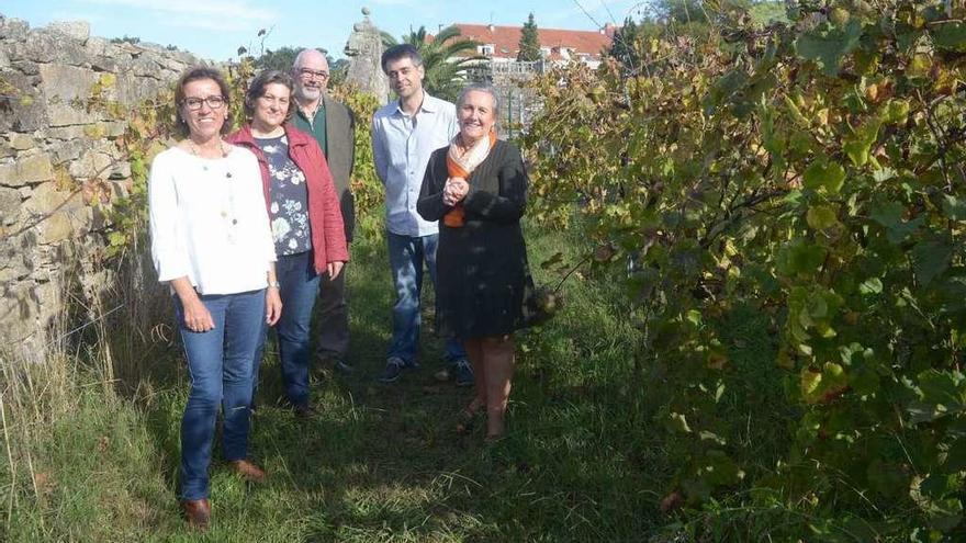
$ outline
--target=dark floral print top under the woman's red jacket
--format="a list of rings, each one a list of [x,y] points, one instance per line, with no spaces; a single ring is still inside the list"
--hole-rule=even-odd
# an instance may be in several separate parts
[[[312,249],[308,226],[308,190],[305,174],[289,158],[289,139],[282,134],[256,138],[268,161],[271,178],[269,219],[276,240],[276,254],[297,254]]]

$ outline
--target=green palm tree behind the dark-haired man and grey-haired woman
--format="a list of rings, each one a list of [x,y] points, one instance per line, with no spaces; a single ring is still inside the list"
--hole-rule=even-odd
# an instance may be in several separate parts
[[[463,38],[456,26],[447,26],[436,36],[429,35],[425,26],[419,26],[418,31],[411,31],[402,38],[402,42],[397,42],[390,34],[382,33],[382,44],[385,47],[400,43],[416,46],[419,56],[423,57],[423,69],[426,71],[423,87],[434,97],[451,102],[456,101],[470,65],[485,59],[476,55],[480,43]]]

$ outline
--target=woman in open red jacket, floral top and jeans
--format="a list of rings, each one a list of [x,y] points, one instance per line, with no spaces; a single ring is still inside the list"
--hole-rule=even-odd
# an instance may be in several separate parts
[[[261,166],[279,259],[282,318],[276,332],[282,380],[295,415],[305,417],[313,412],[308,398],[308,326],[319,275],[327,273],[335,279],[349,260],[349,252],[325,156],[315,138],[285,123],[295,106],[292,88],[292,78],[282,71],[258,75],[245,97],[250,122],[228,140],[255,152]],[[255,383],[258,365],[256,360]]]

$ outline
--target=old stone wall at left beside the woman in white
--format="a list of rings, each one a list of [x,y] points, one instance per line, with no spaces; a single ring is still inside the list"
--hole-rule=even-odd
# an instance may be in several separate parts
[[[72,264],[89,291],[105,281],[96,263],[105,216],[82,186],[98,178],[124,194],[130,170],[115,140],[125,125],[80,102],[113,75],[106,98],[135,105],[199,63],[89,34],[87,23],[30,29],[0,14],[0,351],[43,350]]]

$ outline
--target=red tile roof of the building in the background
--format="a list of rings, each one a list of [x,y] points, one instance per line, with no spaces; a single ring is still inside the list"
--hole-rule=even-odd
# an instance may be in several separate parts
[[[475,39],[483,45],[494,45],[494,57],[516,58],[520,47],[520,26],[490,26],[485,24],[456,23],[463,36]],[[537,36],[541,47],[559,48],[566,47],[573,54],[587,54],[592,58],[598,58],[600,52],[610,47],[615,26],[607,25],[604,32],[570,31],[559,29],[537,27]],[[557,55],[554,55],[555,57]]]

